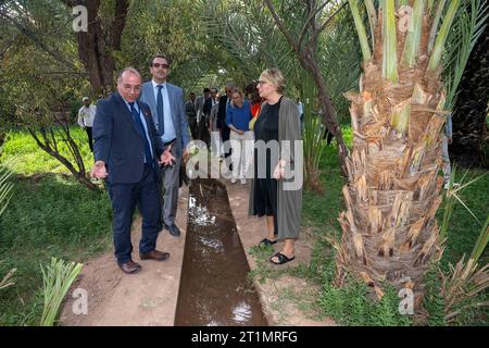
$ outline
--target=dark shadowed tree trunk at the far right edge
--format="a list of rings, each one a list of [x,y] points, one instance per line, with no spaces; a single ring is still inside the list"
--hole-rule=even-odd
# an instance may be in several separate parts
[[[486,117],[489,101],[489,18],[472,51],[462,77],[455,113],[452,116],[453,142],[450,157],[457,164],[489,167],[489,138]]]

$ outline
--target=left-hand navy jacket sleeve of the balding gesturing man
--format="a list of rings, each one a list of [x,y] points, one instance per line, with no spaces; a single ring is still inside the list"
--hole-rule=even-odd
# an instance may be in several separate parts
[[[112,144],[112,129],[114,117],[108,111],[108,102],[101,100],[97,103],[97,112],[93,120],[93,158],[95,161],[109,162],[109,152]]]

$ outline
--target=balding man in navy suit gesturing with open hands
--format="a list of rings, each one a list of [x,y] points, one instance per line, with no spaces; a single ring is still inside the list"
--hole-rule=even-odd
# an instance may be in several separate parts
[[[139,73],[133,67],[123,70],[117,92],[98,102],[93,121],[91,176],[105,178],[108,184],[115,258],[121,270],[129,274],[141,270],[131,258],[130,226],[136,206],[142,215],[140,259],[163,261],[170,257],[155,247],[161,229],[160,164],[171,165],[173,157],[156,134],[149,107],[137,101],[140,88]]]

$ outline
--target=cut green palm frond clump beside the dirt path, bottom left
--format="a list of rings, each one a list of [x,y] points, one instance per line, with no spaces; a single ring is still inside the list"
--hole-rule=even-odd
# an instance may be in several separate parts
[[[46,270],[41,265],[45,294],[41,326],[54,324],[63,298],[82,268],[82,263],[65,263],[63,260],[57,260],[55,258],[51,259],[51,264],[47,265]]]

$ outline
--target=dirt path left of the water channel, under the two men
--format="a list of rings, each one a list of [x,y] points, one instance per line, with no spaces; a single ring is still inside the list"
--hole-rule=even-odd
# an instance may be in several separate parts
[[[75,315],[74,299],[62,311],[61,325],[172,326],[180,282],[184,243],[187,227],[188,189],[180,190],[176,224],[181,235],[175,238],[163,231],[158,237],[158,250],[170,252],[167,261],[140,261],[138,243],[141,217],[133,224],[133,258],[142,266],[135,275],[124,274],[112,252],[85,263],[79,281],[73,288],[88,293],[88,314]]]

